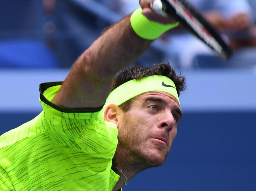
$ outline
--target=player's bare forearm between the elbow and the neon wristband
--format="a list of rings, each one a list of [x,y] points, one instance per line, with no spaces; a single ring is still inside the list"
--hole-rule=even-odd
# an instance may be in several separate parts
[[[83,53],[85,73],[108,79],[137,60],[149,47],[151,40],[139,37],[132,29],[130,16],[106,30]]]

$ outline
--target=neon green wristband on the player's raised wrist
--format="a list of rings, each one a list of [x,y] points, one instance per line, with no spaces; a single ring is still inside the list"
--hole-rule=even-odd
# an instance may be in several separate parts
[[[131,15],[131,25],[135,33],[141,38],[153,40],[161,36],[167,30],[177,27],[179,22],[172,24],[161,24],[150,21],[141,13],[141,7],[136,9]]]

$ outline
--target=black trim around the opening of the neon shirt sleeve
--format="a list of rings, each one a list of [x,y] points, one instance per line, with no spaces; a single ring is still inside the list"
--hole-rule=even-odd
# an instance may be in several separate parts
[[[40,84],[39,92],[40,92],[41,101],[43,101],[45,104],[53,107],[54,109],[64,112],[64,113],[94,113],[94,112],[100,111],[103,108],[103,106],[95,107],[95,108],[67,108],[67,107],[62,107],[62,106],[56,105],[56,104],[52,103],[51,101],[49,101],[48,99],[46,99],[46,97],[43,95],[43,92],[49,87],[58,86],[61,84],[62,84],[62,81],[46,82],[46,83]]]

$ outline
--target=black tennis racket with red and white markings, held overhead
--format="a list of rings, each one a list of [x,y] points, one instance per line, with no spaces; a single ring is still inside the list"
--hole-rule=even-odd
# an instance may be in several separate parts
[[[219,33],[185,0],[155,0],[150,7],[162,16],[171,16],[188,28],[224,60],[233,53]]]

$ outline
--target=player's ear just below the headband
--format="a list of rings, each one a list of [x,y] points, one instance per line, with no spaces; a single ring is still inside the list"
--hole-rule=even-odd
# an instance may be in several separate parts
[[[110,104],[106,107],[104,112],[105,121],[115,123],[118,127],[120,124],[120,117],[123,111],[115,104]]]

